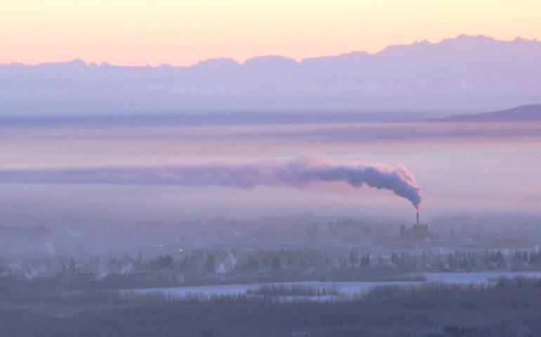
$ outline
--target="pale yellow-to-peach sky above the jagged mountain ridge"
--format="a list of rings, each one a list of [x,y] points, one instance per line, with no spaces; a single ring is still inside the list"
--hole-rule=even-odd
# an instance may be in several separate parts
[[[0,63],[301,60],[459,34],[541,39],[539,0],[4,0]]]

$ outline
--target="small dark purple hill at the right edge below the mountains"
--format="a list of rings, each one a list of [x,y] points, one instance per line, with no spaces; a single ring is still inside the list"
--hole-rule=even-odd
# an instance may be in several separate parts
[[[541,104],[522,105],[511,109],[481,114],[455,114],[442,121],[541,121]]]

